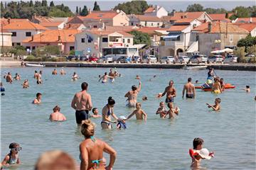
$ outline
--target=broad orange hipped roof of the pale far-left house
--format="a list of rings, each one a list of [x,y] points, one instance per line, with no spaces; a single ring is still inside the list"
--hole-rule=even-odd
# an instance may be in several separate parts
[[[31,21],[22,21],[22,22],[15,22],[10,23],[4,26],[6,30],[48,30],[37,23],[32,23]]]

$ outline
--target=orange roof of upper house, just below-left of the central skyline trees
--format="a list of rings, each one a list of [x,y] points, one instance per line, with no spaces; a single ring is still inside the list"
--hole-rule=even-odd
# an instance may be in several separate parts
[[[87,16],[83,17],[83,19],[109,19],[114,18],[114,16],[117,16],[116,11],[92,11],[92,13],[89,13]]]

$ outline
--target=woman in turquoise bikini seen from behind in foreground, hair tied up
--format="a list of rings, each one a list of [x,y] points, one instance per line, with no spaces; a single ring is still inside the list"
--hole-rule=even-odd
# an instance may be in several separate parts
[[[80,143],[80,170],[106,169],[112,170],[117,152],[106,142],[94,137],[95,124],[90,120],[82,121],[82,135],[85,140]],[[103,152],[110,154],[110,164],[105,167]]]

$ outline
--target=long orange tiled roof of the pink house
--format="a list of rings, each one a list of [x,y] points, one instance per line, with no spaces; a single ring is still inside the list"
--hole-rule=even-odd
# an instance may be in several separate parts
[[[26,38],[22,42],[75,42],[75,34],[80,33],[80,30],[46,30],[43,33],[33,35],[31,38]],[[58,38],[60,36],[60,41]]]

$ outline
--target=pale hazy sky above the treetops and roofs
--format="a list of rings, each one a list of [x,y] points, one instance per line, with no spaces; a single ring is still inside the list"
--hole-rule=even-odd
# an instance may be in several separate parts
[[[17,1],[17,0],[14,0]],[[24,1],[24,0],[23,0]],[[26,1],[26,0],[25,0]],[[65,4],[65,6],[69,6],[71,11],[75,11],[76,6],[82,7],[82,6],[87,6],[87,8],[93,8],[93,4],[94,4],[95,0],[83,0],[83,1],[77,1],[77,0],[66,0],[66,1],[54,1],[54,4]],[[100,0],[97,1],[97,4],[100,5],[100,9],[101,10],[110,10],[111,8],[114,8],[114,6],[116,6],[119,3],[123,3],[125,2],[124,0],[116,0],[116,1],[110,1],[110,0]],[[251,1],[232,1],[232,0],[225,0],[225,1],[221,1],[221,0],[205,0],[205,1],[201,1],[201,0],[166,0],[166,1],[147,1],[148,4],[152,4],[152,5],[159,5],[159,6],[164,6],[164,8],[166,8],[167,11],[172,11],[173,9],[176,9],[176,11],[180,11],[186,10],[186,7],[190,4],[201,4],[204,8],[225,8],[226,10],[232,10],[233,8],[235,8],[235,6],[255,6],[256,5],[256,1],[255,0],[251,0]],[[49,1],[50,3],[50,1]]]

